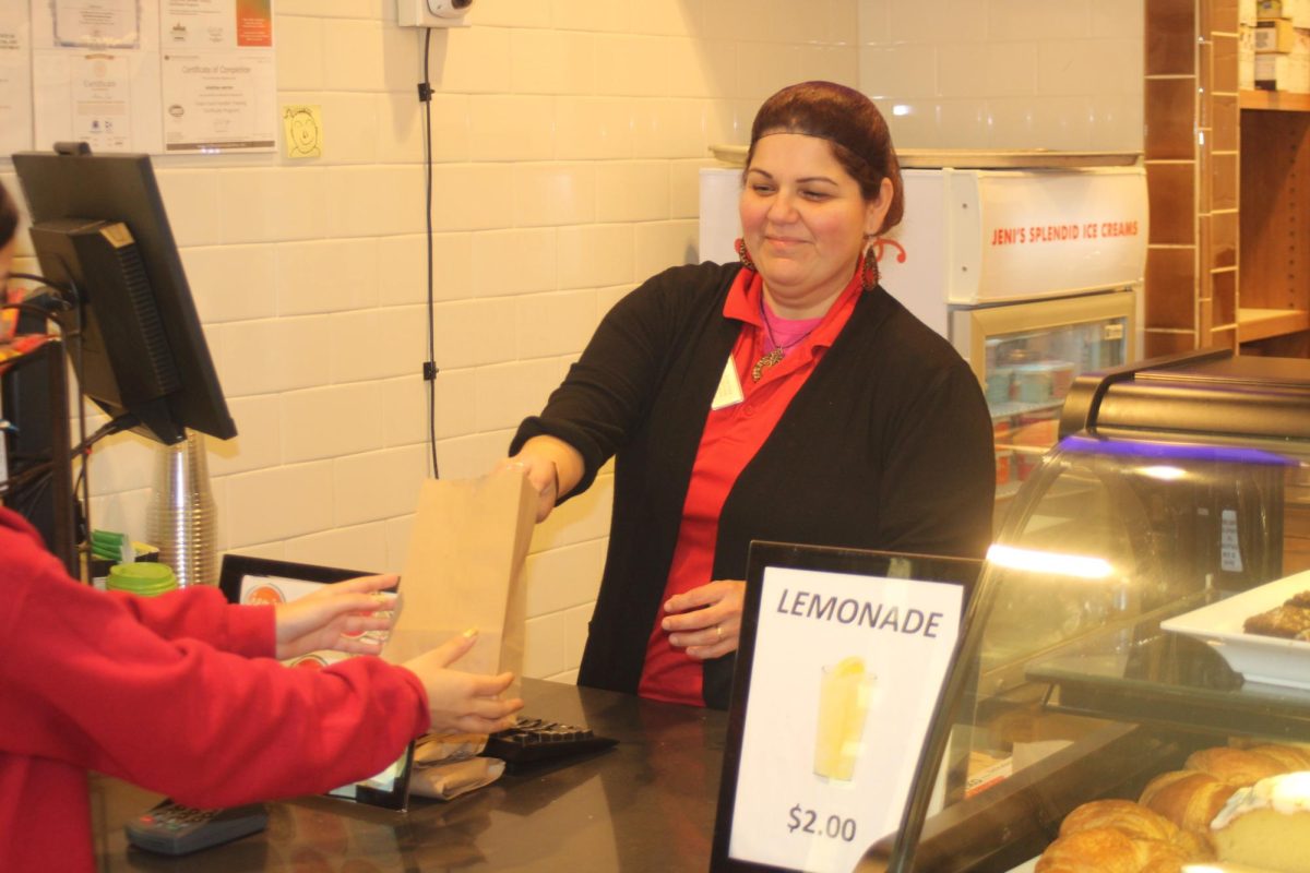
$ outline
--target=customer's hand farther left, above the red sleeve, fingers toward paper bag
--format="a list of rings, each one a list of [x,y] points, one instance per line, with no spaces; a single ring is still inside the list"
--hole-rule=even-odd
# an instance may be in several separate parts
[[[360,635],[392,627],[396,597],[381,590],[396,588],[398,581],[396,573],[360,576],[324,585],[290,603],[278,603],[274,607],[278,657],[293,658],[317,649],[377,654],[381,644]]]

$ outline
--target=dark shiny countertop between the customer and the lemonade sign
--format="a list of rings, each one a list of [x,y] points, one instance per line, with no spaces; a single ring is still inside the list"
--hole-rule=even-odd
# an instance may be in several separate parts
[[[92,779],[101,870],[706,870],[727,713],[524,681],[534,717],[586,724],[618,746],[406,813],[328,797],[269,805],[261,834],[172,859],[127,846],[159,794]]]

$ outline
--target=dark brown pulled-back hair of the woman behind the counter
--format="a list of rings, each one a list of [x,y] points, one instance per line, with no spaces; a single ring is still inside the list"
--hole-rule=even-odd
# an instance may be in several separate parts
[[[878,233],[900,224],[905,212],[900,161],[887,120],[874,101],[836,82],[812,81],[783,88],[764,101],[755,115],[751,148],[745,153],[748,170],[756,143],[768,134],[804,134],[828,140],[833,157],[859,183],[865,200],[878,199],[883,179],[891,179],[892,203]]]

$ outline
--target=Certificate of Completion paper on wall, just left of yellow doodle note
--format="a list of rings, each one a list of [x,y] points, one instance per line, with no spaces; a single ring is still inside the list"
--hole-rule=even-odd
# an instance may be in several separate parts
[[[279,123],[272,52],[166,52],[164,151],[271,151]]]

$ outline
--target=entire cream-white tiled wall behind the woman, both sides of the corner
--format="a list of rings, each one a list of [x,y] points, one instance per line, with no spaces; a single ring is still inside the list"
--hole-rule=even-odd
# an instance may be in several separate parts
[[[486,471],[603,313],[697,259],[707,145],[744,143],[776,88],[861,85],[907,147],[1136,149],[1142,3],[495,0],[432,31],[441,474]],[[279,97],[322,107],[321,160],[156,162],[241,431],[208,452],[224,548],[360,569],[407,552],[428,469],[423,43],[394,17],[278,1]],[[141,535],[153,455],[134,436],[97,452],[97,524]],[[536,531],[532,675],[575,675],[612,487]]]

